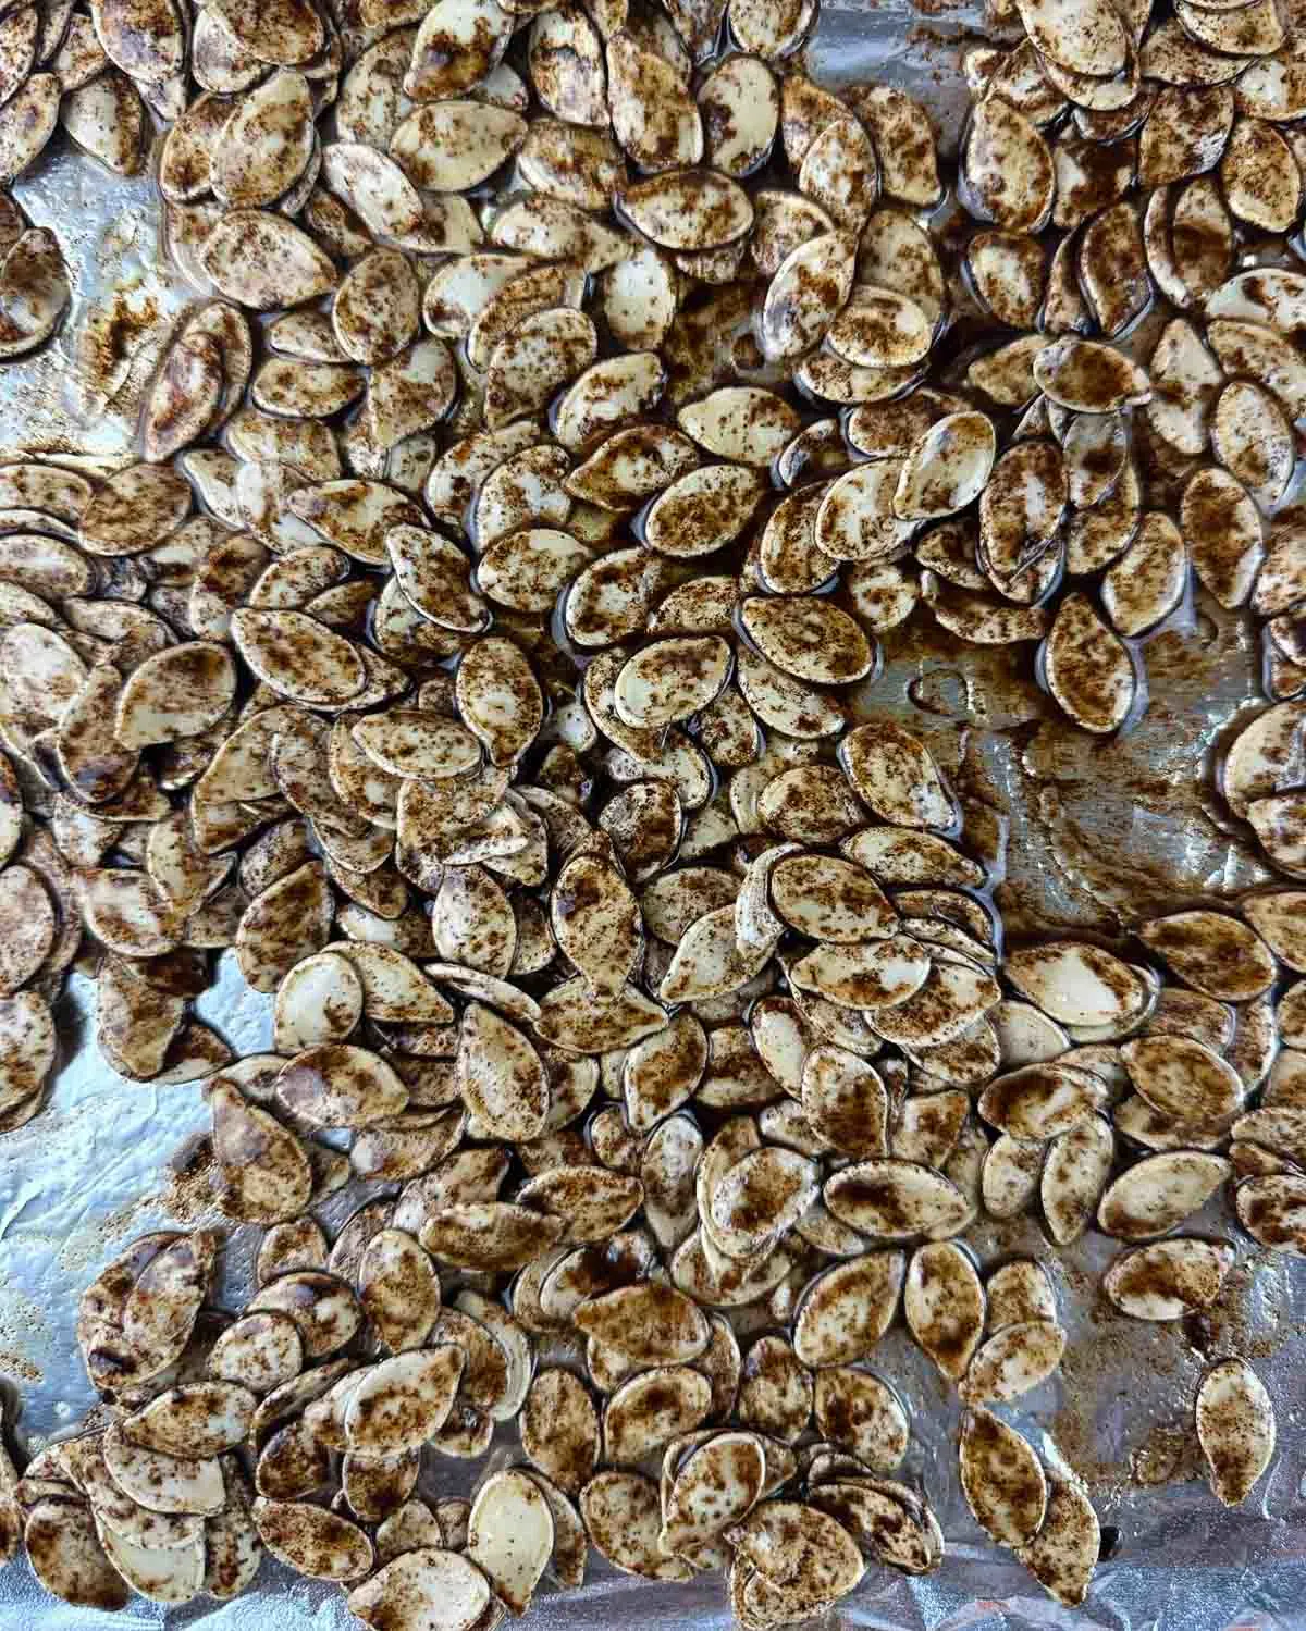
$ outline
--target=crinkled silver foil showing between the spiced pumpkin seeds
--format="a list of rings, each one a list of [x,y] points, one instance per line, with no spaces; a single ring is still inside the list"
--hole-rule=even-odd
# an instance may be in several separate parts
[[[933,0],[838,5],[825,0],[809,69],[825,83],[879,75],[920,96],[951,147],[965,113],[959,51],[982,16]],[[0,449],[129,457],[139,391],[171,315],[189,298],[157,266],[158,217],[148,178],[121,181],[73,152],[47,157],[18,186],[38,225],[59,235],[75,284],[70,323],[33,362],[0,375]],[[910,721],[947,765],[967,806],[967,842],[998,879],[1009,931],[1074,928],[1120,935],[1140,917],[1195,897],[1220,900],[1270,874],[1221,816],[1213,762],[1234,719],[1259,703],[1259,656],[1242,617],[1189,600],[1145,643],[1149,700],[1118,739],[1074,731],[1039,690],[1029,648],[959,649],[921,630],[885,641],[885,669],[859,698],[866,713]],[[236,1049],[269,1041],[264,998],[227,956],[197,1003]],[[218,1223],[196,1160],[207,1116],[197,1086],[119,1080],[90,1036],[93,988],[73,977],[60,1010],[64,1068],[51,1106],[0,1142],[0,1375],[7,1421],[28,1450],[73,1427],[93,1403],[73,1341],[77,1298],[106,1259],[165,1222]],[[364,1197],[329,1202],[339,1223]],[[1128,1631],[1306,1628],[1306,1264],[1247,1253],[1220,1202],[1195,1230],[1238,1238],[1242,1261],[1221,1308],[1148,1326],[1104,1306],[1101,1272],[1114,1243],[1089,1235],[1048,1248],[1032,1218],[988,1223],[970,1241],[986,1266],[1042,1261],[1057,1282],[1071,1342],[1060,1373],[1009,1411],[1048,1466],[1088,1484],[1104,1528],[1104,1562],[1089,1602],[1065,1610],[970,1518],[955,1471],[955,1398],[903,1331],[874,1368],[911,1414],[903,1476],[934,1504],[947,1535],[942,1569],[920,1580],[869,1569],[827,1616],[893,1631],[941,1626],[1104,1626]],[[253,1236],[254,1231],[241,1231]],[[225,1274],[228,1305],[249,1284],[254,1240],[238,1235]],[[1251,1359],[1278,1411],[1278,1453],[1242,1510],[1226,1512],[1200,1476],[1192,1398],[1205,1365]],[[510,1434],[478,1463],[434,1470],[445,1494],[468,1492],[510,1453]],[[532,1624],[577,1631],[618,1623],[665,1631],[729,1624],[717,1577],[657,1585],[618,1576],[590,1554],[584,1589],[540,1598]],[[271,1559],[235,1603],[199,1598],[179,1610],[134,1600],[119,1615],[47,1597],[24,1559],[0,1572],[3,1631],[336,1631],[357,1624],[331,1587]]]

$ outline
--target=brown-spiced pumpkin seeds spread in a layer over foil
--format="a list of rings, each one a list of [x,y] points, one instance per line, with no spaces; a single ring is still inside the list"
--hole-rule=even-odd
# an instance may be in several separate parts
[[[101,1408],[0,1460],[55,1595],[233,1597],[266,1549],[481,1631],[593,1546],[794,1623],[942,1558],[902,1316],[975,1520],[1074,1605],[1097,1517],[1004,1414],[1057,1295],[967,1228],[1101,1230],[1154,1321],[1242,1235],[1306,1253],[1306,894],[1008,948],[874,708],[915,615],[1115,732],[1195,574],[1265,644],[1221,794],[1306,876],[1291,8],[1008,10],[955,188],[900,90],[804,75],[812,0],[0,21],[5,178],[57,122],[130,173],[157,124],[197,292],[140,462],[0,466],[0,1129],[82,967],[121,1076],[204,1081],[263,1230],[235,1316],[207,1230],[86,1290]],[[68,289],[8,202],[0,240],[11,356]],[[191,1010],[225,949],[267,1054]],[[1241,1235],[1198,1233],[1226,1189]],[[1224,1359],[1193,1408],[1246,1499],[1264,1386]]]

